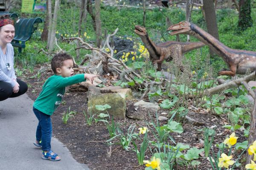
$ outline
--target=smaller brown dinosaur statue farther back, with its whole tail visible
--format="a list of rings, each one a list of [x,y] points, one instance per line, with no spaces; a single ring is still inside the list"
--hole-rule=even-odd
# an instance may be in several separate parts
[[[161,71],[162,62],[164,60],[172,60],[173,57],[182,57],[183,54],[192,51],[196,48],[201,48],[205,44],[203,42],[178,42],[178,41],[166,41],[163,43],[155,44],[148,37],[146,28],[143,26],[135,26],[134,32],[140,36],[145,48],[148,49],[149,57],[153,63],[157,63],[157,71]],[[176,60],[174,60],[176,61]],[[181,59],[177,59],[177,62],[181,62]],[[176,63],[180,70],[183,71],[181,63]]]

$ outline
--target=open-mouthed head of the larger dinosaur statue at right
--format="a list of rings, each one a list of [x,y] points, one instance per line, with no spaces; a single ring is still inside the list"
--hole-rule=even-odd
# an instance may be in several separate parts
[[[181,21],[180,23],[174,24],[172,26],[169,26],[169,28],[167,28],[167,31],[172,31],[172,32],[169,32],[169,34],[171,35],[186,34],[190,30],[191,30],[190,23],[187,21]]]

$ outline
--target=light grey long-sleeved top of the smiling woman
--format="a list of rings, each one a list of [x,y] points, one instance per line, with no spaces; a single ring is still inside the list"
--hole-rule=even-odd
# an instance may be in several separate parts
[[[14,51],[12,44],[7,44],[6,54],[3,54],[2,49],[0,48],[0,82],[7,82],[15,86],[16,79],[15,71],[13,68],[13,59],[14,59]]]

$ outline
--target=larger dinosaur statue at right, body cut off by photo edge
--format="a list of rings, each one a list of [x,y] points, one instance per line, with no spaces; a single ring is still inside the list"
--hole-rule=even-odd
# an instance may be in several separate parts
[[[189,34],[196,37],[201,42],[209,46],[216,54],[224,59],[229,66],[229,71],[220,71],[218,75],[235,76],[236,74],[246,74],[247,71],[253,72],[256,68],[256,52],[236,50],[228,48],[212,35],[202,30],[193,23],[182,21],[170,26],[167,31],[171,35]]]

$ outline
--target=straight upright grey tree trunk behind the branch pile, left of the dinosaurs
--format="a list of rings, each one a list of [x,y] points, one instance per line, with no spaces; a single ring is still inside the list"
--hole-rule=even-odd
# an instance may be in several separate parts
[[[95,0],[95,26],[96,26],[96,45],[100,48],[102,39],[102,28],[100,20],[100,2],[101,0]]]

